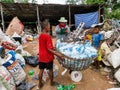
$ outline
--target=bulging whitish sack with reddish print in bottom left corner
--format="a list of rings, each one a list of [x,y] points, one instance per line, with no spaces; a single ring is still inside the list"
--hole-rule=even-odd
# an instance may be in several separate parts
[[[4,66],[0,66],[0,90],[16,90],[13,77]]]

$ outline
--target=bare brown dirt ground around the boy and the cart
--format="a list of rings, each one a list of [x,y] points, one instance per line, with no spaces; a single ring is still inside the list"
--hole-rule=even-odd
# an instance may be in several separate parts
[[[53,42],[55,43],[55,39],[53,39]],[[37,41],[34,42],[29,42],[23,45],[24,50],[28,51],[32,55],[37,55],[38,54],[38,43]],[[59,82],[62,85],[69,85],[74,83],[75,88],[73,90],[107,90],[109,88],[114,87],[114,85],[108,83],[108,79],[106,78],[103,72],[101,71],[94,71],[91,68],[88,68],[82,72],[82,80],[78,83],[75,83],[71,80],[69,73],[67,72],[65,75],[61,75],[61,72],[64,70],[64,68],[59,64],[59,62],[55,59],[54,63],[58,65],[59,70],[58,70],[58,76],[54,78],[55,81]],[[34,70],[35,74],[39,73],[38,66],[37,67],[31,67],[26,64],[25,66],[25,72],[27,74],[27,78],[29,82],[35,82],[36,84],[38,83],[38,80],[32,80],[32,77],[34,76],[29,76],[28,72],[30,70]],[[102,70],[102,69],[101,69]],[[104,72],[105,73],[105,72]],[[34,87],[32,90],[36,90],[36,87]],[[57,90],[57,87],[51,87],[49,85],[49,81],[46,82],[41,90]]]

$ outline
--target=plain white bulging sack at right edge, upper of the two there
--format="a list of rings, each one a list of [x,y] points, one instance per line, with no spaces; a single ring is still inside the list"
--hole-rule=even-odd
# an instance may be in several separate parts
[[[120,65],[120,48],[109,54],[107,59],[114,68],[117,68]]]

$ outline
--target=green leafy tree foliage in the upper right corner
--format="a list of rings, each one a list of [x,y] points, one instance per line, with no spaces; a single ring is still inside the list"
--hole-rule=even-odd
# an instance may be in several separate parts
[[[103,4],[106,3],[104,7],[105,18],[116,18],[120,19],[120,0],[86,0],[86,4]],[[112,12],[108,12],[108,8],[112,9]]]

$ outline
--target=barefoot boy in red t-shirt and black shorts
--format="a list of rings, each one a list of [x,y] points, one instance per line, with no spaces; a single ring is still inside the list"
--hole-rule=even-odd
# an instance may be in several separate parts
[[[60,57],[62,56],[55,52],[53,47],[52,38],[49,35],[50,23],[45,20],[42,23],[42,33],[39,36],[39,88],[43,86],[42,75],[44,69],[49,69],[49,77],[51,86],[55,84],[53,82],[53,59],[54,55]]]

